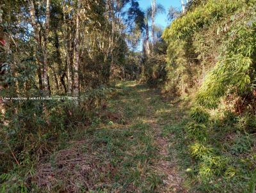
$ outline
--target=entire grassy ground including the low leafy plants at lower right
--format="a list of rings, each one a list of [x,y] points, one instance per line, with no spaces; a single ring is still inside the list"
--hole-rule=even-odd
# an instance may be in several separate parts
[[[0,190],[253,192],[255,136],[236,129],[243,120],[201,119],[190,106],[120,82],[90,126],[63,131],[52,153],[1,174]]]

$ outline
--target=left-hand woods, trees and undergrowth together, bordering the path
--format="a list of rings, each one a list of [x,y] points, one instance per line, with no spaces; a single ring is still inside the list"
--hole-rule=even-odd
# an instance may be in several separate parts
[[[30,167],[67,130],[91,124],[113,82],[138,77],[132,50],[143,19],[136,0],[1,1],[0,175]],[[6,100],[39,96],[77,99]]]

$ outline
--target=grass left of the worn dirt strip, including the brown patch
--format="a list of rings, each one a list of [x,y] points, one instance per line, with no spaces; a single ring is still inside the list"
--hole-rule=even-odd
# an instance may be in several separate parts
[[[104,116],[93,118],[90,127],[63,132],[54,152],[35,162],[31,181],[22,179],[26,191],[159,192],[164,176],[154,168],[159,155],[150,126],[151,116],[164,106],[159,103],[161,97],[152,95],[147,86],[121,82],[106,112],[100,112]],[[117,118],[111,120],[112,114]],[[42,176],[40,169],[49,174]],[[48,180],[40,183],[38,178]],[[3,179],[2,190],[21,190],[22,183],[15,181],[14,187],[10,182]]]

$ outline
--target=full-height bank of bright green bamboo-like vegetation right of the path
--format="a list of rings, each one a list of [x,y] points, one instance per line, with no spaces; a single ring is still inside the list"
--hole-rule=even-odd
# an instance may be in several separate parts
[[[207,192],[254,192],[255,1],[193,1],[173,20],[166,91],[193,100],[188,172]],[[195,186],[193,187],[195,189]]]

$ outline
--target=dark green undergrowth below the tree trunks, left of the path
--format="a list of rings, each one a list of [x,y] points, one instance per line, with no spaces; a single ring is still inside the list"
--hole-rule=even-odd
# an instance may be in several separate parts
[[[77,128],[81,123],[89,125],[101,104],[111,95],[113,89],[98,88],[81,94],[81,104],[68,97],[60,100],[21,100],[13,102],[7,109],[4,125],[0,129],[0,146],[3,156],[0,158],[0,171],[12,169],[12,151],[20,164],[29,164],[54,148],[62,134]],[[35,96],[36,93],[31,93]],[[17,109],[13,113],[13,109]]]

